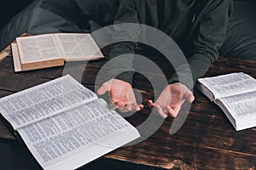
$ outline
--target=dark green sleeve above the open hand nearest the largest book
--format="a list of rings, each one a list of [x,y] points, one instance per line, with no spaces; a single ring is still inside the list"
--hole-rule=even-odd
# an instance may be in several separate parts
[[[134,48],[137,46],[137,37],[140,31],[138,26],[127,25],[127,23],[139,23],[134,0],[119,1],[119,10],[114,20],[113,42],[115,43],[109,55],[112,60],[109,77],[131,83],[133,75],[132,54],[134,54]],[[125,55],[119,59],[114,59],[122,54]]]

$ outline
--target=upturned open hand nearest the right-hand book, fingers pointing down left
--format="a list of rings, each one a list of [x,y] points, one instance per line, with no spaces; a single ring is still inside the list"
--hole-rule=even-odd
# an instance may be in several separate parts
[[[189,88],[180,82],[175,82],[166,86],[155,103],[148,100],[148,106],[155,109],[163,118],[169,115],[176,117],[185,100],[192,103],[195,97]]]

